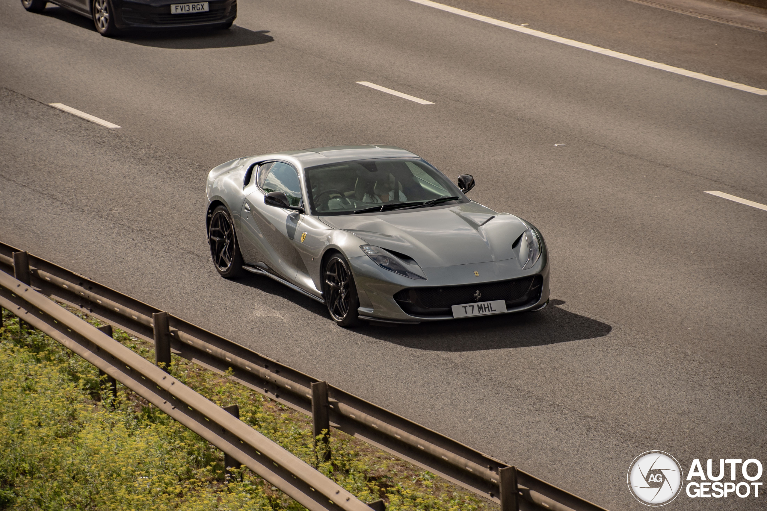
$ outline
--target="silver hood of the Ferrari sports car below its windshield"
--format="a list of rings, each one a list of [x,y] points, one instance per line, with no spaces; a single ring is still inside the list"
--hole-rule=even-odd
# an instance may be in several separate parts
[[[527,228],[519,218],[476,202],[322,221],[368,244],[406,254],[422,268],[513,259],[512,244]]]

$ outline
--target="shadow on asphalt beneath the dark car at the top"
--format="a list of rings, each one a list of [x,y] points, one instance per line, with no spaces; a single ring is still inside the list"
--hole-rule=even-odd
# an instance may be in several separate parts
[[[130,32],[115,39],[140,46],[168,48],[173,50],[202,50],[206,48],[225,48],[252,46],[271,43],[275,40],[268,35],[268,30],[252,31],[237,25],[227,30],[168,30]]]

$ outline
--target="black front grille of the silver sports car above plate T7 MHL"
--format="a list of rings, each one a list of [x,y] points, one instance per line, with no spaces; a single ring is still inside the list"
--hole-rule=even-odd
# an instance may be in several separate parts
[[[412,316],[444,316],[453,313],[453,305],[463,303],[504,300],[507,307],[524,305],[541,296],[542,283],[543,277],[535,275],[468,286],[410,287],[397,292],[394,300]]]

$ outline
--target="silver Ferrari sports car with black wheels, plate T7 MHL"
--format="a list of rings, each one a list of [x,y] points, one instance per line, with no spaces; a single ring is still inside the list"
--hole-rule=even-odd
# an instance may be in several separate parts
[[[210,254],[223,277],[270,277],[340,326],[543,309],[542,234],[467,198],[474,185],[393,146],[233,159],[208,174]]]

